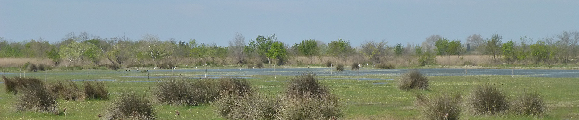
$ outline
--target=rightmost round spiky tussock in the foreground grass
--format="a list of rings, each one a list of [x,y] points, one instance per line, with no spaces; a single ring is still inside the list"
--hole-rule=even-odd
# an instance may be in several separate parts
[[[542,116],[545,113],[543,96],[537,92],[523,92],[511,104],[511,110],[516,114]]]

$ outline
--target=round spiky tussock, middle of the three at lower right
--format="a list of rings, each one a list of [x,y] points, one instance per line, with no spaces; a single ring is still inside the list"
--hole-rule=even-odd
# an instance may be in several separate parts
[[[508,109],[507,96],[493,84],[478,85],[468,97],[467,107],[474,114],[494,115]]]

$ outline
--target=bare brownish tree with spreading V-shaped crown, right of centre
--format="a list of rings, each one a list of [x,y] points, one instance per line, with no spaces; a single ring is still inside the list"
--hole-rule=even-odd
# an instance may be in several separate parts
[[[372,61],[372,63],[374,64],[380,63],[380,58],[386,56],[387,50],[386,43],[388,42],[386,42],[385,40],[382,40],[382,42],[366,40],[362,43],[361,45],[362,49],[360,50],[360,52],[366,55],[366,57],[368,57]]]

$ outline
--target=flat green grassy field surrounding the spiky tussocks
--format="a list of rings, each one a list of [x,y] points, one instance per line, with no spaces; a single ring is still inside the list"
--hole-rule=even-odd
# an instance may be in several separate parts
[[[117,80],[107,81],[107,87],[111,98],[115,99],[119,91],[134,89],[147,93],[151,96],[150,88],[154,82],[126,82],[126,81],[155,81],[158,76],[182,76],[198,77],[199,72],[114,72],[114,70],[68,70],[49,72],[48,81],[55,80]],[[123,77],[123,76],[147,76],[150,78]],[[210,73],[221,74],[221,73]],[[235,73],[233,73],[235,74]],[[27,77],[36,77],[44,80],[44,72],[27,73]],[[227,75],[227,74],[226,74]],[[14,77],[19,74],[6,74]],[[88,76],[88,77],[87,77]],[[248,79],[260,91],[267,95],[278,95],[284,91],[286,81],[293,76],[245,76],[254,77]],[[318,76],[318,78],[352,78],[352,76]],[[355,78],[355,77],[354,77]],[[394,78],[375,74],[361,76],[360,78]],[[321,80],[328,85],[332,93],[340,97],[347,104],[347,119],[356,119],[378,115],[382,117],[394,117],[405,119],[418,119],[419,113],[413,107],[414,92],[435,93],[441,91],[460,92],[468,95],[474,85],[494,83],[499,85],[513,99],[518,93],[530,90],[537,91],[544,96],[548,111],[542,118],[525,117],[522,115],[505,114],[498,116],[481,116],[463,113],[461,119],[579,119],[579,78],[541,78],[521,76],[433,76],[430,79],[430,90],[401,91],[397,89],[395,80]],[[163,78],[159,78],[163,80]],[[76,82],[82,86],[82,82]],[[386,83],[386,84],[373,84]],[[20,112],[13,109],[16,95],[5,92],[5,86],[0,85],[0,119],[65,119],[63,114],[40,114]],[[104,114],[109,100],[83,100],[71,101],[58,100],[58,108],[62,111],[67,108],[67,119],[98,119],[98,114]],[[201,106],[174,107],[168,105],[156,105],[158,119],[223,119],[214,114],[211,104]],[[175,116],[175,111],[181,115]]]

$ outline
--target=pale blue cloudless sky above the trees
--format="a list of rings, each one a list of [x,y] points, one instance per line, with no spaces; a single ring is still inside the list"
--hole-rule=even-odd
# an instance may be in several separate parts
[[[56,42],[69,32],[104,38],[145,33],[228,46],[276,33],[293,44],[341,37],[420,44],[430,35],[464,40],[472,33],[504,40],[552,36],[579,28],[579,1],[8,1],[0,0],[0,37]]]

